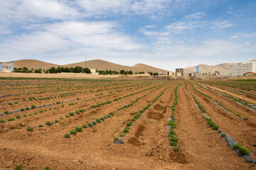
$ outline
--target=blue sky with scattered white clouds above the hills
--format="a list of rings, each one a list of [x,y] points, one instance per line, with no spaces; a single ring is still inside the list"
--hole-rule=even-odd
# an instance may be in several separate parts
[[[0,61],[174,71],[256,59],[255,0],[0,0]]]

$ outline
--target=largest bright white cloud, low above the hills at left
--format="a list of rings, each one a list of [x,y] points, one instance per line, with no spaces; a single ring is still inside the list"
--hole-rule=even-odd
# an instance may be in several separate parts
[[[17,35],[0,43],[2,57],[54,55],[60,51],[75,50],[77,54],[91,51],[126,52],[140,50],[144,45],[134,42],[128,35],[115,30],[112,22],[65,21],[48,24],[43,30]]]

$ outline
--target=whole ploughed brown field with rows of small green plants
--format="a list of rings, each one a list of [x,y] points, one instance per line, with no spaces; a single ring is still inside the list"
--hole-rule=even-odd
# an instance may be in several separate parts
[[[255,81],[0,85],[0,169],[256,169]]]

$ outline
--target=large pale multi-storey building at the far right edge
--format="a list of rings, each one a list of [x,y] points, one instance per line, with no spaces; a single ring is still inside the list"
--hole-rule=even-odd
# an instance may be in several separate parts
[[[230,66],[230,76],[238,77],[247,72],[256,72],[256,62],[240,62]]]

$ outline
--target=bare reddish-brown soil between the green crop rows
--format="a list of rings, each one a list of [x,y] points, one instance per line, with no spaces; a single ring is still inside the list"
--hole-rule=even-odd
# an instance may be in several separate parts
[[[53,106],[45,106],[34,110],[13,113],[11,115],[2,115],[0,119],[7,120],[8,118],[16,118],[16,115],[21,115],[20,119],[15,119],[9,123],[0,123],[0,169],[13,169],[16,165],[21,165],[23,169],[43,169],[45,166],[50,166],[50,169],[255,169],[255,166],[249,168],[244,160],[230,150],[225,141],[221,140],[215,130],[209,128],[203,116],[196,108],[195,102],[190,94],[186,91],[184,83],[178,87],[178,106],[176,106],[175,118],[176,128],[174,129],[178,137],[178,146],[181,147],[179,152],[174,152],[174,148],[169,145],[167,122],[171,115],[171,106],[174,102],[174,89],[177,86],[173,81],[70,81],[66,84],[60,80],[38,80],[23,81],[11,80],[0,81],[2,85],[1,91],[7,94],[21,93],[21,96],[16,96],[15,100],[22,99],[25,95],[23,92],[38,89],[44,89],[39,86],[48,86],[46,93],[50,89],[55,89],[58,84],[60,89],[51,91],[52,96],[58,91],[75,92],[70,96],[63,98],[57,97],[43,101],[21,101],[18,105],[9,106],[4,104],[0,108],[0,113],[6,110],[31,106],[32,104],[39,105],[53,103],[56,101],[65,101],[73,98],[80,98],[74,101],[74,105],[69,106],[65,103],[55,104]],[[178,83],[180,83],[178,82]],[[24,89],[11,89],[15,84],[31,84],[25,86]],[[65,84],[61,86],[61,84]],[[144,84],[144,86],[142,86]],[[156,85],[164,85],[160,89],[156,89],[146,97],[149,87]],[[134,85],[134,86],[133,86]],[[74,89],[70,86],[75,86]],[[166,89],[170,86],[169,89]],[[28,88],[29,87],[29,88]],[[119,88],[120,87],[120,88]],[[122,88],[121,88],[122,87]],[[132,87],[132,89],[129,89]],[[138,87],[141,87],[139,89]],[[119,89],[117,89],[119,88]],[[118,90],[124,90],[114,92]],[[129,91],[127,91],[129,89]],[[146,91],[142,91],[148,89]],[[124,144],[119,145],[113,143],[113,137],[118,137],[122,130],[126,127],[126,123],[134,117],[136,113],[142,110],[148,103],[159,96],[162,91],[165,93],[152,106],[142,113],[141,117],[134,121],[129,128],[129,132],[123,138]],[[242,113],[243,106],[238,108],[239,113],[247,114],[249,121],[240,120],[233,115],[225,113],[223,109],[218,108],[208,98],[197,94],[191,86],[188,86],[191,93],[197,98],[203,107],[206,108],[207,115],[220,125],[221,130],[227,132],[235,138],[235,141],[248,147],[252,154],[256,153],[252,145],[256,141],[255,117],[246,113]],[[93,93],[79,93],[79,91],[94,91]],[[114,95],[107,96],[112,91]],[[126,96],[128,94],[137,93],[133,96],[122,98],[118,101],[113,101],[114,98]],[[215,95],[212,92],[207,92],[209,95]],[[99,96],[105,96],[98,98]],[[30,94],[31,96],[40,96],[38,94]],[[42,96],[46,96],[43,94]],[[117,97],[114,97],[117,96]],[[136,98],[139,101],[132,106],[117,111],[118,108],[124,106]],[[218,96],[215,96],[216,98]],[[92,98],[96,98],[92,100]],[[224,98],[218,97],[218,100]],[[6,98],[2,99],[7,101]],[[9,98],[11,100],[11,97]],[[90,101],[89,101],[90,100]],[[90,108],[88,106],[102,103],[107,100],[112,101],[107,105],[99,108]],[[37,103],[38,102],[38,103]],[[2,103],[1,103],[2,104]],[[228,107],[232,107],[231,101],[225,103]],[[54,109],[56,107],[56,109]],[[237,107],[237,106],[234,106]],[[49,111],[49,108],[52,108]],[[87,111],[76,114],[78,108],[85,108]],[[163,109],[164,108],[164,109]],[[43,113],[34,115],[41,109],[47,109]],[[235,109],[235,108],[232,108]],[[96,118],[101,118],[104,115],[114,111],[114,116],[107,118],[101,123],[97,123],[93,128],[83,128],[82,132],[76,135],[71,135],[70,138],[65,138],[65,133],[81,127],[85,123],[90,123]],[[66,118],[68,113],[75,113],[74,116]],[[27,117],[23,117],[26,114]],[[32,114],[32,115],[29,115]],[[63,119],[60,119],[63,118]],[[250,120],[251,119],[251,120]],[[58,123],[50,126],[44,125],[43,128],[38,128],[38,125],[43,125],[46,121],[53,122],[60,120]],[[28,132],[27,127],[33,127],[33,132]]]

